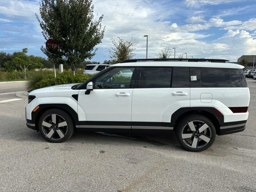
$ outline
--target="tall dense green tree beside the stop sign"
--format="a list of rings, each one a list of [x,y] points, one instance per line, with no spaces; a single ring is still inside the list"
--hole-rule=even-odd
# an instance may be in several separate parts
[[[101,43],[104,30],[101,29],[103,15],[94,19],[92,0],[42,0],[40,16],[36,18],[45,40],[54,40],[59,48],[41,50],[49,60],[66,62],[75,74],[76,67],[85,59],[91,59]]]

